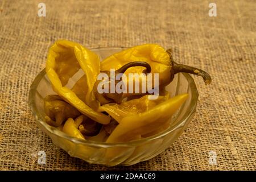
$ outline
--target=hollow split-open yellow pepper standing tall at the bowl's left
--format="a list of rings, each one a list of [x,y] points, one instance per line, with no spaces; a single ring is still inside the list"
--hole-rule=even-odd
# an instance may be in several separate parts
[[[81,82],[86,80],[87,90],[84,101],[80,99],[82,95],[81,90],[78,89],[79,86],[73,90],[65,86],[69,78],[75,75],[80,68],[86,77],[86,79],[81,79]],[[92,89],[97,75],[100,73],[100,59],[95,53],[78,43],[58,40],[49,48],[46,73],[53,90],[61,98],[94,121],[105,125],[110,122],[108,115],[96,111],[100,103],[93,96]],[[77,91],[78,95],[74,91]]]

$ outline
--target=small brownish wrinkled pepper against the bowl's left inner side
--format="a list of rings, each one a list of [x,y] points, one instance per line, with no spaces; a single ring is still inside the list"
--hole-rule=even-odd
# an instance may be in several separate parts
[[[44,98],[44,111],[47,115],[46,122],[55,127],[59,127],[68,118],[76,118],[81,114],[79,110],[56,95]]]

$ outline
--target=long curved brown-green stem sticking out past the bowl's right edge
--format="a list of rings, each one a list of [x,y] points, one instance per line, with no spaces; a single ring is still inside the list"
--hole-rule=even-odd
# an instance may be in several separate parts
[[[210,75],[207,72],[205,72],[205,71],[203,71],[201,69],[195,68],[195,67],[190,67],[188,65],[177,64],[172,59],[172,55],[171,55],[172,50],[171,49],[167,49],[166,52],[170,56],[171,64],[173,65],[172,69],[173,69],[174,75],[176,73],[180,73],[180,72],[190,73],[190,74],[193,74],[193,75],[197,75],[197,76],[203,77],[205,85],[208,85],[208,84],[210,84],[210,82],[212,82],[212,78],[210,77]]]

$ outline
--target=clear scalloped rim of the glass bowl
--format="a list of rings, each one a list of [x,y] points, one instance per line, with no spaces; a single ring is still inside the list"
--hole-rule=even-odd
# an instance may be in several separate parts
[[[96,51],[96,50],[100,50],[100,49],[107,50],[107,49],[123,49],[123,48],[126,48],[126,47],[97,47],[97,48],[90,48],[90,50]],[[30,106],[32,114],[35,117],[36,123],[38,123],[38,125],[43,126],[44,129],[46,129],[49,133],[55,135],[56,137],[61,137],[61,138],[67,139],[73,143],[85,144],[86,146],[92,146],[92,147],[138,146],[139,144],[148,142],[150,140],[163,138],[164,136],[172,133],[172,131],[175,131],[175,130],[179,129],[180,127],[183,127],[185,125],[185,123],[187,123],[187,121],[189,121],[189,118],[192,117],[192,115],[195,113],[196,106],[197,106],[197,99],[199,96],[195,81],[188,73],[178,73],[177,76],[179,76],[179,74],[182,74],[188,80],[189,87],[192,90],[192,92],[191,92],[192,107],[189,107],[190,109],[188,111],[186,111],[182,121],[180,121],[179,123],[176,123],[174,126],[171,126],[169,129],[160,132],[159,134],[155,134],[155,135],[152,135],[151,137],[147,137],[147,138],[132,140],[129,142],[106,143],[106,142],[96,142],[96,141],[92,141],[92,140],[78,139],[78,138],[70,137],[69,135],[65,134],[63,131],[60,131],[56,127],[48,125],[44,121],[43,116],[39,113],[38,108],[36,107],[36,104],[34,102],[35,101],[34,98],[36,96],[36,88],[38,87],[42,78],[44,76],[47,76],[45,68],[35,77],[34,81],[32,81],[32,84],[30,85],[30,90],[29,90],[29,94],[28,94],[28,105]],[[183,107],[183,105],[181,107]],[[176,119],[175,119],[175,121],[176,121]],[[175,121],[174,121],[174,123],[175,123]],[[46,133],[46,132],[44,132],[44,133]]]

